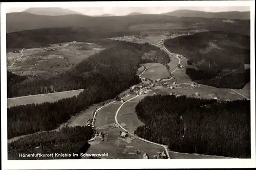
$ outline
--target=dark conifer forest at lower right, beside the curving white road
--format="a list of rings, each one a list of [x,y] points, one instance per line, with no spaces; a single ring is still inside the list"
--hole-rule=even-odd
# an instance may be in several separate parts
[[[211,105],[200,107],[206,104]],[[218,104],[186,96],[154,95],[140,101],[136,113],[145,125],[135,133],[166,144],[172,151],[251,157],[250,101]]]

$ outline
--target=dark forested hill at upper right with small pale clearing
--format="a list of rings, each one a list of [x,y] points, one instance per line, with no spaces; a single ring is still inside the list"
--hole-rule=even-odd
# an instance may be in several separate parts
[[[218,88],[242,88],[250,81],[250,36],[209,31],[168,39],[170,52],[185,56],[186,74],[200,84]],[[196,68],[195,68],[196,67]]]

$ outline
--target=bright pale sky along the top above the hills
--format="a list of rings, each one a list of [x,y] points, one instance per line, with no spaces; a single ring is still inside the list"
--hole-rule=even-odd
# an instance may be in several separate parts
[[[22,12],[28,8],[7,8],[7,13]],[[172,12],[179,9],[206,11],[206,12],[226,12],[226,11],[250,11],[249,6],[225,6],[225,7],[83,7],[83,8],[66,8],[72,11],[82,13],[84,15],[127,15],[132,12],[140,12],[144,14],[160,14]]]

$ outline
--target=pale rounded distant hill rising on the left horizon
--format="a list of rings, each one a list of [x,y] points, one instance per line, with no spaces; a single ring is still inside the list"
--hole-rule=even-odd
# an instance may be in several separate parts
[[[35,15],[48,15],[48,16],[70,15],[70,14],[83,15],[79,12],[71,11],[69,9],[62,9],[62,8],[29,8],[23,12],[35,14]]]

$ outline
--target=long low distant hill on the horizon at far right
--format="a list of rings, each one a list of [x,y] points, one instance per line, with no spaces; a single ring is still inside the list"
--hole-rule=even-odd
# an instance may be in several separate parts
[[[162,15],[177,17],[204,17],[204,18],[225,18],[225,19],[250,19],[250,12],[204,12],[194,10],[176,10],[173,12],[163,13]]]

